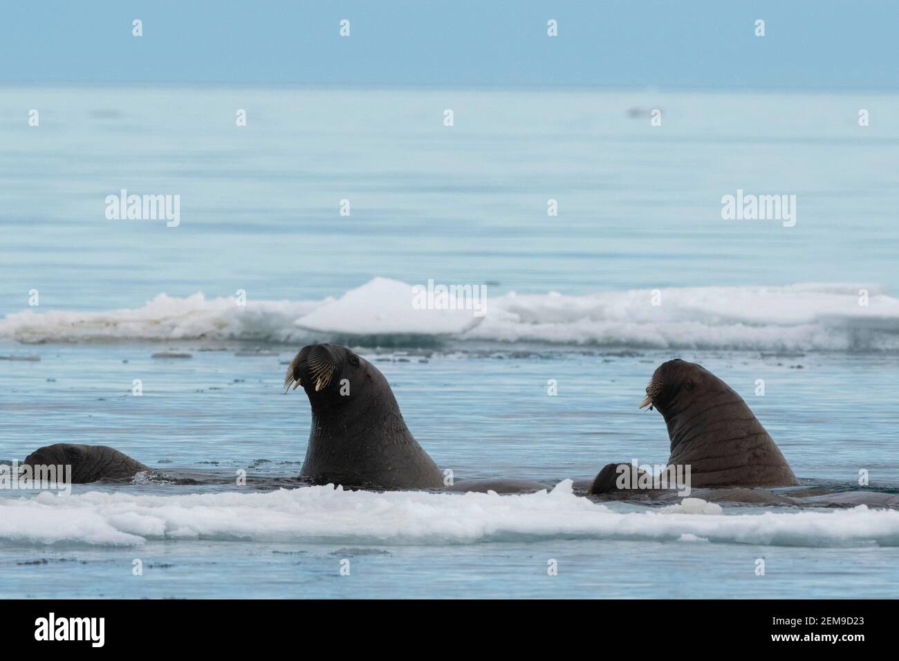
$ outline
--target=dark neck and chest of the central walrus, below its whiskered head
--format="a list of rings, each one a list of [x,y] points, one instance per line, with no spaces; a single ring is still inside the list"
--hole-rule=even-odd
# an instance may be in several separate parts
[[[351,401],[317,402],[301,477],[344,487],[441,487],[440,469],[415,441],[387,381]]]

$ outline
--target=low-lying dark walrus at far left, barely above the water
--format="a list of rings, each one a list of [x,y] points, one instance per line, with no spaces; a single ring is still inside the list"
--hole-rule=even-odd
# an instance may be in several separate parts
[[[86,484],[101,479],[130,479],[139,472],[152,472],[127,454],[106,445],[57,443],[31,452],[24,466],[71,466],[72,484]]]

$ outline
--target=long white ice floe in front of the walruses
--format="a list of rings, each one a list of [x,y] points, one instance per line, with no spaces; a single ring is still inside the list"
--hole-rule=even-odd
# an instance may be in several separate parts
[[[699,503],[703,509],[708,506]],[[0,544],[134,546],[151,540],[243,540],[439,546],[569,539],[899,546],[899,512],[865,506],[725,516],[672,515],[654,508],[616,511],[574,496],[571,480],[550,491],[518,496],[373,493],[325,486],[269,493],[148,496],[92,491],[0,498]]]

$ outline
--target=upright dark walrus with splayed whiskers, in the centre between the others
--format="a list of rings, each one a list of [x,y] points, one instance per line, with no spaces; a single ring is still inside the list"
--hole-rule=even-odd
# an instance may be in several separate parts
[[[415,441],[390,384],[370,362],[337,344],[304,346],[284,375],[286,391],[299,386],[312,407],[300,478],[343,487],[443,486],[441,470]]]

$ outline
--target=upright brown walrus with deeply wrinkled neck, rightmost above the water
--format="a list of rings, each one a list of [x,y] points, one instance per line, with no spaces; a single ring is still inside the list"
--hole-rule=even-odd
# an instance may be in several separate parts
[[[691,467],[693,487],[796,485],[778,446],[734,389],[693,362],[663,362],[640,408],[657,408],[671,440],[669,465]]]

